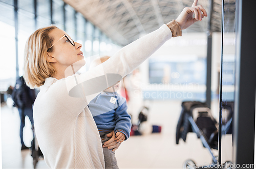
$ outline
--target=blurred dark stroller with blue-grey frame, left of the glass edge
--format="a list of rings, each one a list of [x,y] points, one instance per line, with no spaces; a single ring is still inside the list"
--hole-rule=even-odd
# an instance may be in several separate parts
[[[211,115],[210,108],[206,103],[201,102],[183,102],[180,118],[176,130],[176,144],[179,139],[186,141],[188,132],[195,132],[197,137],[202,140],[203,146],[207,148],[212,157],[212,164],[217,164],[217,156],[211,152],[211,149],[218,149],[218,123]],[[200,168],[214,167],[205,165]],[[183,168],[195,168],[196,163],[193,160],[185,161]]]

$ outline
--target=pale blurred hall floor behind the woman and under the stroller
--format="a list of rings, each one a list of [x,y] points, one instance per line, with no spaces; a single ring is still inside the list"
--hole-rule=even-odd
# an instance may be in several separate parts
[[[203,148],[195,133],[189,133],[186,142],[180,139],[179,144],[176,144],[180,111],[180,101],[152,101],[148,124],[162,126],[162,132],[131,136],[124,141],[116,151],[119,168],[182,168],[187,159],[197,164],[211,163],[209,152]],[[31,151],[20,151],[18,110],[6,104],[1,105],[1,132],[2,168],[33,168]],[[27,117],[24,138],[25,144],[30,147],[33,136]],[[225,159],[231,159],[230,146],[223,145],[226,148],[223,152]],[[215,155],[218,153],[216,150],[212,152]],[[48,168],[44,159],[38,161],[37,168]]]

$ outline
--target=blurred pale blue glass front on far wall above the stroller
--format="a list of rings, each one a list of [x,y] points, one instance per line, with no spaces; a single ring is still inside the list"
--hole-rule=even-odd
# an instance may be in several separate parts
[[[149,81],[165,87],[163,93],[168,93],[168,100],[201,101],[205,99],[206,58],[196,56],[158,56],[149,60]],[[176,89],[176,90],[174,90]],[[159,90],[159,89],[158,89]],[[171,92],[172,91],[172,92]],[[145,91],[154,93],[156,91]],[[182,95],[180,95],[182,94]],[[153,97],[147,100],[162,100]],[[146,96],[144,96],[146,97]]]

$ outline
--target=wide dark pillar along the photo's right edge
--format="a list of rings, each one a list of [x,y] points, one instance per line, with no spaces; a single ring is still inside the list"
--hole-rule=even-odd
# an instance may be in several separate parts
[[[255,0],[238,0],[236,16],[236,83],[233,122],[233,163],[254,163],[255,135]],[[250,167],[254,168],[254,167]]]

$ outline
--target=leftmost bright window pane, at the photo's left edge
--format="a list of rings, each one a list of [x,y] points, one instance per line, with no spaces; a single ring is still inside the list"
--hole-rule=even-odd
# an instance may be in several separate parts
[[[0,91],[6,91],[16,81],[14,7],[0,2],[0,9]]]

